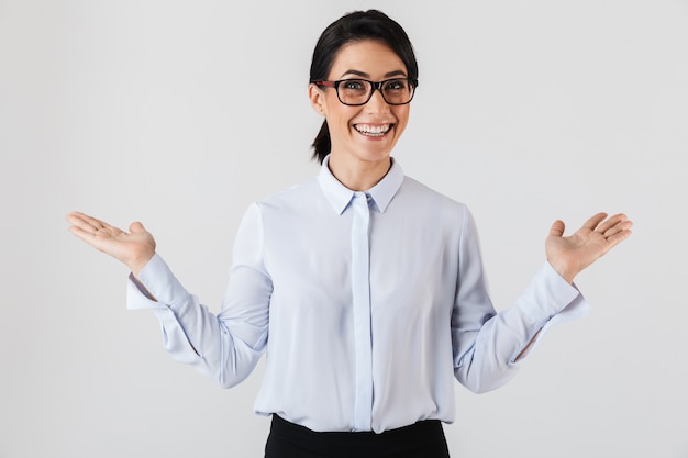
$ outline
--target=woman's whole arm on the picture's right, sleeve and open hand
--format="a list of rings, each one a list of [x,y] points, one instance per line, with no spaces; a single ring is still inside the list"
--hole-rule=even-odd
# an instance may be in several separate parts
[[[626,238],[632,224],[623,215],[602,222],[604,217],[603,213],[591,217],[570,237],[563,237],[563,223],[555,222],[546,242],[548,262],[512,308],[496,314],[487,293],[475,224],[467,215],[452,315],[455,376],[463,384],[476,392],[504,384],[550,325],[587,311],[585,300],[572,286],[573,278]],[[611,241],[601,242],[600,237]]]

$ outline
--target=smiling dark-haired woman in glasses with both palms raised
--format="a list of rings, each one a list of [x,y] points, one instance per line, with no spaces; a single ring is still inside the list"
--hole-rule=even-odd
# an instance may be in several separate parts
[[[453,379],[476,392],[511,379],[543,328],[586,308],[576,275],[631,234],[623,214],[567,237],[555,222],[547,261],[496,314],[467,208],[391,158],[417,86],[411,43],[381,12],[323,32],[308,91],[324,116],[320,174],[247,210],[218,315],[141,223],[67,216],[129,266],[129,306],[156,313],[175,358],[231,387],[267,354],[255,403],[273,415],[266,457],[447,457]]]

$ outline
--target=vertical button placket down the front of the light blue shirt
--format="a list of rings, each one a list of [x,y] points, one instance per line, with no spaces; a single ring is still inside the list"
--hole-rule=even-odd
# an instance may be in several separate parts
[[[370,429],[373,410],[373,338],[370,335],[370,210],[368,197],[356,192],[352,223],[352,294],[356,349],[354,429]]]

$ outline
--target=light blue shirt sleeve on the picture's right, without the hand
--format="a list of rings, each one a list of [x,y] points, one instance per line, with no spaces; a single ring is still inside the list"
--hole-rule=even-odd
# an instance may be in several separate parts
[[[556,323],[580,317],[589,306],[578,289],[548,262],[536,272],[514,304],[496,313],[489,299],[475,222],[466,210],[459,254],[459,284],[452,313],[454,373],[474,392],[511,380],[533,342]]]

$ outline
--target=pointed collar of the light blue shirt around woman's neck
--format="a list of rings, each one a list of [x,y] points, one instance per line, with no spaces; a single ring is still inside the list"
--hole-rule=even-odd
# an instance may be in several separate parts
[[[356,192],[346,188],[334,178],[334,175],[330,171],[330,167],[328,167],[329,160],[330,156],[326,156],[322,161],[318,182],[322,192],[325,194],[325,199],[328,199],[328,202],[330,202],[334,211],[337,212],[337,214],[342,214]],[[401,170],[401,166],[392,158],[391,167],[387,175],[385,175],[377,185],[365,191],[365,193],[375,202],[380,213],[385,213],[389,202],[391,202],[397,191],[399,191],[399,188],[401,188],[402,182],[403,170]]]

